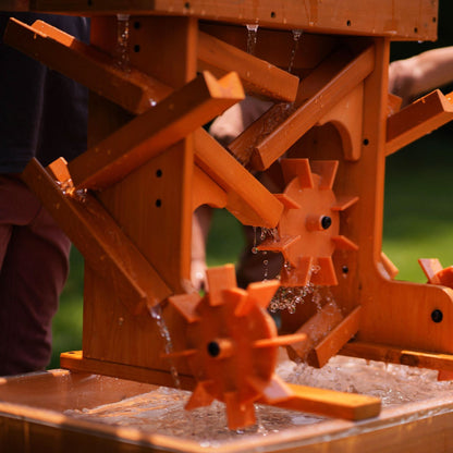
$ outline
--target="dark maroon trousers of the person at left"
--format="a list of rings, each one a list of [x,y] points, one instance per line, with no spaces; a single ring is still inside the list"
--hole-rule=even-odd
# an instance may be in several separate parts
[[[44,369],[70,241],[14,175],[0,175],[0,376]]]

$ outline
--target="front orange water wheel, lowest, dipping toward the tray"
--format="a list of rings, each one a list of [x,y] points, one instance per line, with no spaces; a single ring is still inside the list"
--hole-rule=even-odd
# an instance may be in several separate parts
[[[305,334],[278,336],[266,311],[279,287],[276,280],[236,287],[232,265],[207,271],[209,294],[169,298],[186,319],[186,348],[171,354],[188,362],[197,385],[186,408],[225,403],[229,427],[255,424],[254,402],[287,399],[289,390],[273,374],[278,348]]]

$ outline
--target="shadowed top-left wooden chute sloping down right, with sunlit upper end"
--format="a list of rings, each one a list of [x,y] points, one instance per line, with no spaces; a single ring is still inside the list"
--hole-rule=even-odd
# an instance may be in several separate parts
[[[28,26],[11,19],[3,40],[135,114],[149,110],[151,103],[172,91],[132,66],[121,70],[113,57],[42,21]]]

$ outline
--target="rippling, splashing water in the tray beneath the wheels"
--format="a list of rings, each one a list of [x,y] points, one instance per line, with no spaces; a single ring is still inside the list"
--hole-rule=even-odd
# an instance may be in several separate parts
[[[285,382],[348,393],[380,397],[382,406],[394,407],[405,403],[452,397],[453,382],[438,381],[437,371],[385,365],[362,358],[332,357],[322,367],[311,368],[295,364],[282,353],[276,369]],[[91,409],[70,409],[65,415],[106,425],[128,427],[146,433],[172,436],[198,442],[201,448],[220,448],[225,442],[250,437],[272,437],[278,432],[306,426],[310,429],[326,418],[267,405],[256,405],[255,426],[229,430],[225,406],[215,401],[210,406],[187,412],[184,409],[189,392],[164,387],[118,403]],[[357,426],[357,429],[360,429]],[[279,438],[281,439],[281,438]]]

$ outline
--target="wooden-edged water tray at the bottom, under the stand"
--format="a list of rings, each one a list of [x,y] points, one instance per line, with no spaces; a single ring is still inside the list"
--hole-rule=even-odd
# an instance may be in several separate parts
[[[295,365],[290,366],[290,371],[286,366],[281,374],[293,381],[302,375],[306,381],[310,375],[325,387],[338,387],[340,380],[341,390],[360,391],[356,389],[357,382],[348,381],[344,375],[347,371],[355,379],[360,375],[357,362],[347,360],[329,364],[321,376]],[[359,366],[365,367],[362,363]],[[189,393],[174,389],[61,369],[0,379],[0,451],[364,453],[452,450],[451,383],[437,387],[426,381],[426,374],[421,378],[415,375],[424,370],[409,369],[403,375],[397,370],[400,375],[395,379],[393,370],[396,368],[389,370],[384,364],[375,368],[367,364],[366,368],[368,375],[362,380],[375,381],[368,382],[370,388],[380,389],[383,396],[379,417],[351,423],[260,406],[257,426],[242,431],[225,428],[221,403],[195,412],[184,411]],[[344,369],[343,375],[336,376],[336,383],[326,383],[326,376]],[[403,391],[395,388],[396,380]],[[404,391],[411,385],[425,393],[409,390],[417,395],[407,397]],[[428,392],[429,387],[432,391]],[[414,397],[423,401],[409,401]]]

